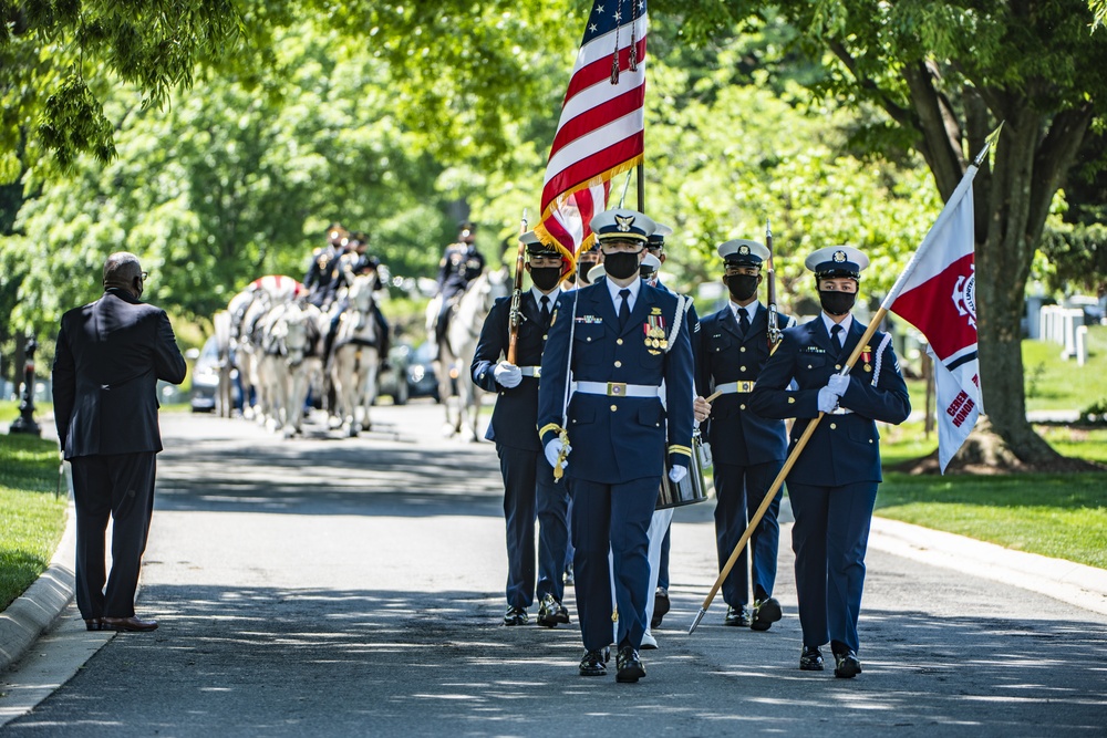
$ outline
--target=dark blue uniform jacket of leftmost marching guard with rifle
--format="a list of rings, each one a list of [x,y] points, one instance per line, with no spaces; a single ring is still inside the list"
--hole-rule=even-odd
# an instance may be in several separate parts
[[[556,292],[550,295],[550,300],[557,300]],[[523,293],[519,309],[523,311],[523,323],[519,325],[519,337],[515,344],[516,364],[541,366],[546,326],[542,324],[541,309],[530,290]],[[518,386],[507,388],[497,383],[493,374],[500,357],[507,355],[510,312],[511,298],[496,300],[492,312],[485,319],[484,328],[480,329],[480,342],[477,344],[469,371],[473,381],[482,389],[498,395],[485,438],[510,448],[540,451],[542,447],[538,443],[537,428],[539,380],[525,376]]]

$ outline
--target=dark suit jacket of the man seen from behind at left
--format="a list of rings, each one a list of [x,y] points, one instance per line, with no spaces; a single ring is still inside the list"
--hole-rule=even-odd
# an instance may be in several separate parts
[[[111,289],[66,312],[53,367],[65,458],[162,450],[157,381],[184,378],[185,358],[161,308]]]

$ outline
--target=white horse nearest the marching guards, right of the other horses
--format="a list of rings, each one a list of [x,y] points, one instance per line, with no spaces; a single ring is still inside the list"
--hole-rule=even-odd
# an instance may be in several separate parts
[[[477,352],[480,329],[492,311],[496,298],[507,297],[508,273],[506,269],[485,272],[469,282],[453,309],[445,340],[438,346],[438,361],[434,371],[438,377],[438,396],[446,406],[446,422],[443,435],[458,435],[465,440],[477,438],[477,416],[480,410],[480,388],[473,383],[469,366]],[[439,299],[427,305],[427,332],[435,340],[434,321],[438,315]],[[456,377],[452,376],[456,370]],[[454,381],[452,381],[454,380]],[[456,385],[457,392],[454,392]]]

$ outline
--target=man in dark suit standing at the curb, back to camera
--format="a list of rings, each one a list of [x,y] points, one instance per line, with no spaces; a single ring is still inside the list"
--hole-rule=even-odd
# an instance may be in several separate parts
[[[54,422],[73,466],[76,603],[90,631],[153,631],[134,596],[154,510],[157,381],[180,384],[185,360],[165,311],[138,301],[146,272],[132,253],[104,264],[104,294],[62,316]],[[114,520],[112,572],[104,533]],[[106,591],[104,589],[106,579]]]

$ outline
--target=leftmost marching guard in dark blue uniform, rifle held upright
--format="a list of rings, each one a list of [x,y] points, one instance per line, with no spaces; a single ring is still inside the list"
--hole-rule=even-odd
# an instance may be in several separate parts
[[[554,484],[554,467],[546,460],[535,429],[542,349],[561,291],[562,258],[556,248],[541,243],[534,231],[524,233],[521,240],[527,246],[525,267],[534,287],[523,293],[519,302],[523,322],[516,343],[518,363],[505,358],[511,311],[511,298],[507,297],[496,300],[485,320],[470,371],[477,385],[498,395],[485,437],[496,443],[504,475],[508,604],[504,624],[524,625],[529,621],[527,609],[536,596],[537,514],[538,624],[555,627],[569,622],[569,611],[561,605],[569,492],[565,485]]]

